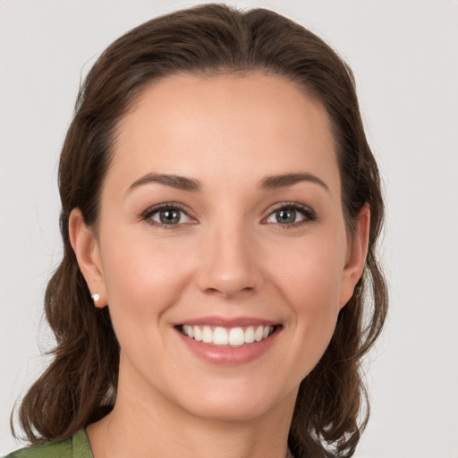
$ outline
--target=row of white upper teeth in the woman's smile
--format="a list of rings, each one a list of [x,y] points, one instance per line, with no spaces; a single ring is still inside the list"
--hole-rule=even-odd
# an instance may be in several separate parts
[[[182,334],[198,342],[214,345],[231,345],[234,347],[260,342],[263,339],[267,339],[273,331],[274,327],[271,326],[259,326],[256,328],[250,326],[246,329],[242,327],[215,327],[215,329],[212,329],[209,326],[182,326]]]

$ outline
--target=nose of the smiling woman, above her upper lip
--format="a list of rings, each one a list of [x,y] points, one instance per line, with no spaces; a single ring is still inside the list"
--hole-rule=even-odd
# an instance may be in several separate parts
[[[263,283],[259,252],[242,225],[214,228],[202,246],[199,288],[225,299],[250,295]]]

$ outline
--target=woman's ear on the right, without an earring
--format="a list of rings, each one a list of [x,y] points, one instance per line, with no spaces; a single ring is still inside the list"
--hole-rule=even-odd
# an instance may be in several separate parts
[[[356,217],[355,232],[352,243],[348,248],[347,259],[342,274],[339,308],[344,307],[352,298],[354,288],[360,280],[360,276],[366,265],[369,247],[369,227],[370,210],[368,205],[364,205]]]

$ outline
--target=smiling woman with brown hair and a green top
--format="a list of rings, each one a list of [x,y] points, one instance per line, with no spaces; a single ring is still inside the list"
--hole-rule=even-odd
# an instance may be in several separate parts
[[[330,47],[221,4],[140,25],[89,72],[59,187],[55,359],[10,456],[354,453],[383,200]]]

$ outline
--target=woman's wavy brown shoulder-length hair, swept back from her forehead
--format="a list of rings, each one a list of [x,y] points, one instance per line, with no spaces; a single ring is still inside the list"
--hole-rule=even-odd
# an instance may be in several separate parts
[[[241,12],[224,4],[141,24],[100,55],[81,86],[59,166],[64,259],[45,297],[57,344],[54,360],[21,403],[21,427],[31,443],[71,437],[113,408],[119,347],[108,308],[99,310],[90,299],[70,245],[68,219],[73,208],[80,208],[87,225],[97,224],[116,126],[147,83],[178,72],[283,76],[327,110],[348,233],[352,235],[355,217],[368,204],[369,254],[365,275],[340,311],[327,351],[301,382],[289,445],[297,457],[351,456],[369,416],[360,360],[380,334],[387,308],[376,253],[384,204],[352,71],[322,39],[297,23],[265,9]]]

